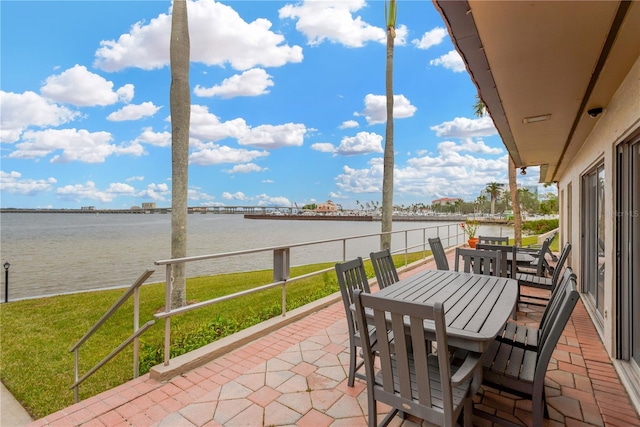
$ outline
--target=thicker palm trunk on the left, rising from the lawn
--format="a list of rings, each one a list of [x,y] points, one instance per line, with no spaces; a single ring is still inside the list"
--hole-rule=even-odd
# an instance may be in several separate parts
[[[191,89],[189,88],[189,22],[187,1],[174,0],[169,48],[171,88],[171,257],[187,256],[187,191],[189,181],[189,122]],[[171,307],[186,304],[185,264],[173,266]]]

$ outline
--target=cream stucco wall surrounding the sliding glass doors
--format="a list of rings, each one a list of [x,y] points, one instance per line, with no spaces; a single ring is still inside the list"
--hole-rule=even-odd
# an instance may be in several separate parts
[[[561,235],[564,241],[572,243],[572,267],[581,276],[581,177],[604,159],[605,167],[605,290],[604,290],[604,328],[600,331],[603,342],[610,355],[615,348],[615,152],[620,142],[625,141],[634,131],[640,128],[640,57],[616,91],[598,124],[573,159],[566,159],[571,166],[559,178],[559,191],[564,194],[563,206],[568,212],[571,204],[571,215],[563,215]],[[572,183],[571,197],[567,191]],[[568,222],[571,221],[571,235],[568,235]]]

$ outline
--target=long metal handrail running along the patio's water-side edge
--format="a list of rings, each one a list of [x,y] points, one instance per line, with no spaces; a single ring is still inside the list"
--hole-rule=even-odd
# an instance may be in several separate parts
[[[454,232],[451,233],[451,227],[454,227]],[[171,317],[175,316],[175,315],[179,315],[179,314],[183,314],[192,310],[196,310],[199,308],[203,308],[203,307],[207,307],[210,306],[212,304],[216,304],[222,301],[227,301],[230,299],[234,299],[234,298],[238,298],[240,296],[245,296],[245,295],[249,295],[249,294],[253,294],[256,292],[260,292],[260,291],[264,291],[266,289],[271,289],[277,286],[282,287],[282,316],[286,316],[286,285],[287,283],[290,282],[295,282],[298,280],[301,280],[303,278],[308,278],[308,277],[312,277],[315,275],[319,275],[322,273],[325,273],[327,271],[331,271],[333,268],[326,268],[326,269],[322,269],[322,270],[318,270],[312,273],[308,273],[305,274],[304,276],[298,276],[295,278],[290,278],[289,277],[289,273],[290,273],[290,249],[291,248],[296,248],[296,247],[303,247],[303,246],[312,246],[312,245],[319,245],[319,244],[325,244],[325,243],[331,243],[331,242],[342,242],[342,260],[346,260],[346,253],[347,253],[347,241],[351,241],[354,239],[363,239],[363,238],[368,238],[368,237],[375,237],[375,236],[382,236],[384,234],[398,234],[398,233],[404,233],[404,241],[405,241],[405,246],[403,248],[401,248],[399,251],[395,251],[395,252],[404,252],[405,254],[405,265],[408,264],[408,254],[409,254],[409,250],[416,248],[416,247],[422,247],[423,251],[424,251],[424,256],[426,257],[426,248],[428,246],[428,241],[427,241],[427,230],[429,229],[436,229],[436,233],[438,235],[438,237],[440,237],[440,230],[442,228],[446,228],[446,237],[442,237],[443,240],[446,240],[449,244],[447,244],[446,246],[451,246],[451,240],[455,238],[455,243],[454,244],[459,244],[459,237],[463,234],[460,227],[457,224],[447,224],[447,225],[436,225],[436,226],[430,226],[430,227],[416,227],[416,228],[412,228],[412,229],[407,229],[407,230],[401,230],[401,231],[390,231],[390,232],[385,232],[385,233],[370,233],[370,234],[362,234],[362,235],[356,235],[356,236],[348,236],[348,237],[337,237],[337,238],[331,238],[331,239],[324,239],[324,240],[315,240],[315,241],[311,241],[311,242],[303,242],[303,243],[292,243],[292,244],[288,244],[288,245],[277,245],[277,246],[269,246],[269,247],[264,247],[264,248],[257,248],[257,249],[246,249],[246,250],[240,250],[240,251],[233,251],[233,252],[224,252],[224,253],[218,253],[218,254],[207,254],[207,255],[197,255],[197,256],[190,256],[190,257],[182,257],[182,258],[172,258],[172,259],[165,259],[165,260],[160,260],[160,261],[155,261],[156,265],[165,265],[166,266],[166,288],[165,288],[165,311],[161,312],[161,313],[156,313],[154,314],[154,317],[156,319],[164,319],[165,320],[165,331],[164,331],[164,365],[168,366],[169,362],[170,362],[170,356],[171,356]],[[418,244],[418,245],[413,245],[413,246],[409,246],[408,244],[408,239],[409,239],[409,232],[412,231],[422,231],[422,243]],[[211,259],[217,259],[217,258],[228,258],[228,257],[233,257],[233,256],[241,256],[241,255],[248,255],[248,254],[256,254],[256,253],[260,253],[260,252],[273,252],[273,282],[266,284],[266,285],[262,285],[256,288],[252,288],[252,289],[248,289],[248,290],[244,290],[241,292],[236,292],[233,294],[229,294],[229,295],[225,295],[222,297],[218,297],[218,298],[213,298],[207,301],[202,301],[196,304],[190,304],[188,306],[184,306],[184,307],[180,307],[180,308],[175,308],[172,309],[171,308],[171,286],[172,286],[172,280],[173,280],[173,265],[174,264],[180,264],[180,263],[186,263],[186,262],[196,262],[196,261],[203,261],[203,260],[211,260]]]

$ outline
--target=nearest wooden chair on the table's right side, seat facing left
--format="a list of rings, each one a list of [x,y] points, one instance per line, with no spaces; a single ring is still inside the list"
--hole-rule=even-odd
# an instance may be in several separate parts
[[[535,350],[495,340],[483,357],[482,384],[531,399],[534,427],[542,427],[544,418],[548,417],[544,379],[553,350],[580,298],[575,277],[569,279],[568,286],[558,298],[557,309],[550,313],[539,331],[539,343]],[[517,425],[479,409],[474,413],[499,424]]]

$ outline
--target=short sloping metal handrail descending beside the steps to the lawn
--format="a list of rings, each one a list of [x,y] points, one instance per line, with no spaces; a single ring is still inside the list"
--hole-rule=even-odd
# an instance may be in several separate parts
[[[125,347],[127,347],[132,341],[134,343],[133,347],[133,377],[137,378],[139,374],[139,341],[138,337],[142,335],[147,329],[149,329],[154,323],[155,320],[150,320],[145,323],[142,328],[139,327],[140,322],[140,286],[153,274],[155,270],[146,270],[142,275],[136,280],[125,292],[122,294],[118,300],[113,303],[113,305],[102,315],[100,320],[98,320],[86,334],[80,340],[69,349],[69,352],[74,352],[74,375],[75,382],[69,388],[74,389],[75,400],[78,402],[79,395],[79,387],[84,380],[89,378],[100,369],[104,364],[106,364],[109,360],[111,360],[115,355],[120,353]],[[133,294],[133,334],[129,336],[126,340],[124,340],[115,350],[113,350],[108,356],[94,365],[87,373],[85,373],[81,378],[79,378],[79,365],[80,365],[80,347],[84,344],[109,318],[124,304]]]

